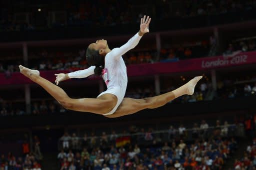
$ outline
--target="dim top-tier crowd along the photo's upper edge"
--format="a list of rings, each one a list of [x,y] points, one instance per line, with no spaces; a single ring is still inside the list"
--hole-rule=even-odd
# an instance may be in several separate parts
[[[67,0],[65,2],[59,0],[51,5],[45,3],[37,9],[28,1],[23,0],[19,2],[20,8],[16,9],[15,13],[26,12],[28,19],[19,19],[22,17],[16,17],[13,14],[12,8],[15,9],[16,6],[13,6],[10,1],[6,2],[6,6],[9,7],[0,10],[0,30],[34,30],[60,26],[111,26],[139,22],[139,18],[145,12],[155,19],[166,19],[244,11],[252,9],[255,5],[254,0],[197,0],[196,2],[193,0],[153,0],[148,4],[134,0],[111,0],[110,3],[105,0]],[[25,6],[30,10],[25,10]],[[51,12],[55,12],[54,19],[49,19]]]

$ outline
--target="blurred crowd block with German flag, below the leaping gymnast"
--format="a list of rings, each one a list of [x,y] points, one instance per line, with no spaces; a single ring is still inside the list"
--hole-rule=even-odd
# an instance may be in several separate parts
[[[221,170],[238,147],[230,137],[235,126],[220,126],[218,120],[213,127],[203,120],[191,129],[170,126],[160,134],[134,129],[82,138],[65,133],[57,155],[60,170]]]

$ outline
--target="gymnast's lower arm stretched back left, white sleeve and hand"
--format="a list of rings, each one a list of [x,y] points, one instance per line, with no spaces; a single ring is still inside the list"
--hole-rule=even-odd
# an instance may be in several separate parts
[[[56,83],[56,85],[58,85],[58,83],[60,81],[64,81],[64,80],[67,80],[67,79],[70,79],[70,78],[85,78],[85,77],[88,77],[88,76],[94,74],[94,68],[95,68],[95,66],[90,66],[87,69],[78,70],[78,71],[74,71],[74,72],[71,72],[71,73],[55,74],[55,76],[56,76],[55,83]]]

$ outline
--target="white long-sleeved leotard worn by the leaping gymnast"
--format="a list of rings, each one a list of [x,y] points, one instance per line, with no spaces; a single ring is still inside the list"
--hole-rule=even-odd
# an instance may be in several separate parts
[[[113,94],[117,97],[117,103],[109,113],[106,113],[104,115],[113,114],[122,102],[122,99],[124,98],[127,87],[127,73],[125,63],[122,59],[122,55],[128,50],[134,48],[138,44],[140,38],[141,36],[136,33],[128,40],[128,42],[126,42],[120,48],[112,49],[105,56],[105,66],[103,69],[102,78],[106,84],[107,90],[100,93],[97,97],[107,93]],[[89,75],[94,74],[94,68],[95,66],[90,66],[89,68],[84,70],[68,73],[68,77],[85,78]]]

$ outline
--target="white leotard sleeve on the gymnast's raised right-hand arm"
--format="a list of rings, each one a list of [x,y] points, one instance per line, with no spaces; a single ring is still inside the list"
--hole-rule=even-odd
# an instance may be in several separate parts
[[[114,59],[119,59],[127,51],[134,48],[138,44],[141,37],[142,36],[139,36],[138,33],[136,33],[124,45],[119,48],[112,49],[109,55],[111,55],[111,57],[113,57]]]

